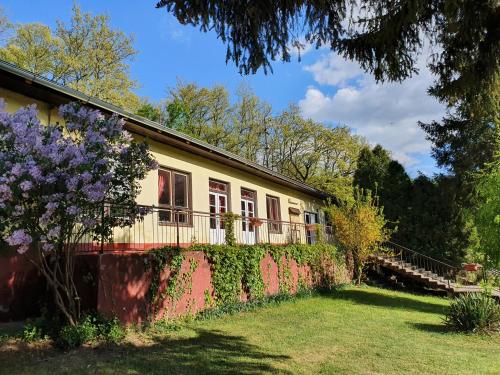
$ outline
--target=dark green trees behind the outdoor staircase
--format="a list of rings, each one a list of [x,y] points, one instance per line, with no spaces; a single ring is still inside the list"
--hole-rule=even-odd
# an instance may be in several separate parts
[[[411,180],[381,146],[364,148],[354,184],[378,196],[391,238],[434,258],[460,263],[476,245],[470,217],[456,204],[454,176]]]

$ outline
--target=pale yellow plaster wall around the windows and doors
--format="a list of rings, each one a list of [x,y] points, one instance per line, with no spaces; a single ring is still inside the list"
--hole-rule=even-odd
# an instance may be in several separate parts
[[[4,88],[0,88],[0,98],[5,100],[8,112],[15,112],[21,106],[36,104],[42,123],[47,124],[49,122],[63,121],[58,116],[57,108],[51,107],[42,101],[34,100]],[[136,136],[135,138],[143,139],[140,136]],[[318,198],[163,143],[152,140],[148,140],[148,143],[152,154],[161,167],[179,170],[191,175],[192,203],[190,206],[193,211],[209,211],[209,179],[216,179],[229,184],[228,211],[240,214],[241,188],[246,188],[256,192],[256,217],[267,218],[266,195],[272,195],[278,197],[280,200],[282,221],[290,220],[289,208],[300,210],[300,222],[302,223],[304,222],[304,212],[306,211],[318,213],[320,221],[322,221],[320,209],[323,202]],[[151,171],[141,182],[141,187],[142,191],[138,196],[138,203],[157,206],[158,171]],[[201,217],[197,220],[194,219],[192,227],[180,228],[181,242],[209,242],[207,228],[207,217],[205,219]],[[134,225],[132,228],[116,229],[115,242],[175,242],[175,238],[173,238],[176,236],[175,230],[176,228],[173,228],[171,225],[160,225],[158,215],[148,215],[142,223]],[[285,235],[283,233],[281,237]],[[283,238],[274,238],[274,240],[274,242],[281,242]]]

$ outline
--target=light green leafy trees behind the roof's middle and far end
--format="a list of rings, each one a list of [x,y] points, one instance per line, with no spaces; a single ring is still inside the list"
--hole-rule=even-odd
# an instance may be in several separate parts
[[[245,86],[236,98],[230,103],[222,86],[178,82],[166,100],[167,126],[341,199],[352,199],[352,178],[365,144],[361,137],[347,127],[327,128],[305,119],[294,105],[274,114]]]

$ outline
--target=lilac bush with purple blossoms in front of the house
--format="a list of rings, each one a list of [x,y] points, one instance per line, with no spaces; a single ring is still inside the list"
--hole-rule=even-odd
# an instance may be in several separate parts
[[[75,324],[76,244],[109,239],[113,227],[143,214],[139,182],[156,163],[117,116],[75,103],[59,114],[64,124],[43,125],[34,105],[9,114],[0,99],[0,237],[21,254],[33,249],[57,306]],[[127,215],[102,215],[105,204]]]

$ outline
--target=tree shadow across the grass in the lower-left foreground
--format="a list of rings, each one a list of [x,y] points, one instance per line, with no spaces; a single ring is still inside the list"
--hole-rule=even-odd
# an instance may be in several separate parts
[[[114,346],[83,347],[68,353],[54,349],[47,349],[46,353],[41,353],[39,349],[29,353],[30,349],[24,346],[22,352],[27,354],[26,361],[11,373],[35,369],[38,369],[37,373],[44,373],[37,368],[40,362],[44,362],[48,366],[46,373],[56,374],[61,364],[71,363],[71,358],[77,357],[80,364],[83,361],[90,366],[85,370],[76,367],[72,373],[77,374],[287,374],[275,364],[290,359],[288,356],[264,352],[242,336],[218,330],[196,329],[195,332],[196,336],[189,338],[153,338],[153,343],[147,346],[127,342]],[[9,363],[6,355],[0,351],[3,363]],[[65,367],[67,371],[67,365]]]

